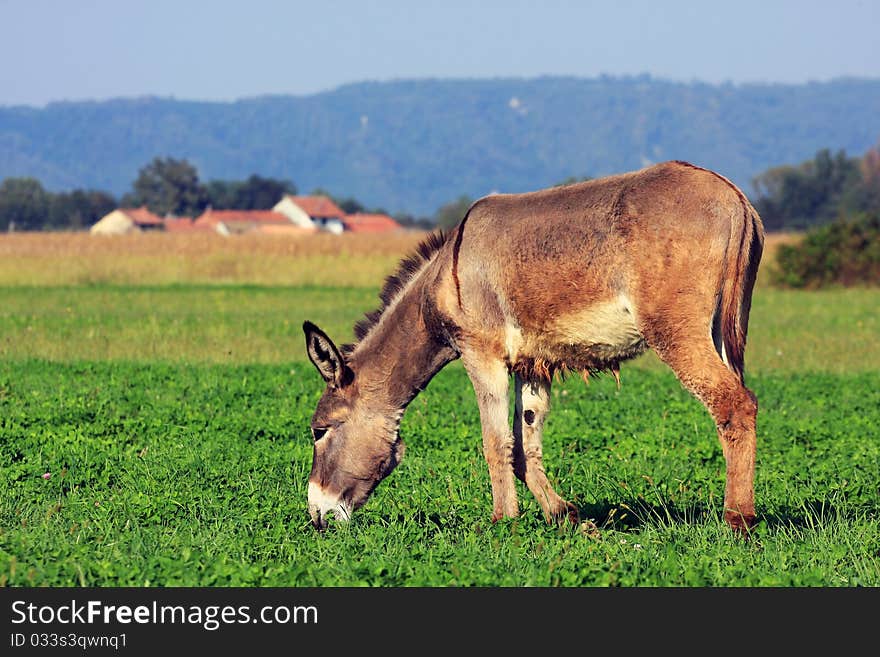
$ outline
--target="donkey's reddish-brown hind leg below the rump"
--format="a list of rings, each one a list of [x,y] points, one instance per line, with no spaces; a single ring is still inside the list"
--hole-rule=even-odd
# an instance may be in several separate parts
[[[758,401],[724,364],[708,335],[665,336],[654,351],[715,420],[727,465],[724,520],[747,534],[755,522],[755,422]]]

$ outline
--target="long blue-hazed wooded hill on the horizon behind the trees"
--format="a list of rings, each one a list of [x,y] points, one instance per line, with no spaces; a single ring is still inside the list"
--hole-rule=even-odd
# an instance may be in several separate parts
[[[0,107],[0,179],[129,191],[155,156],[203,181],[250,174],[430,215],[466,194],[538,189],[667,159],[752,193],[752,177],[880,138],[880,80],[710,85],[649,76],[365,82],[312,96]]]

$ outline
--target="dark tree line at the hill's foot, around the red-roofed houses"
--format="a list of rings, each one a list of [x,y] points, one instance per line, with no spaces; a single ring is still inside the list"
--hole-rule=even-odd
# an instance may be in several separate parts
[[[568,184],[588,178],[569,178]],[[754,204],[767,230],[801,230],[864,212],[880,211],[880,143],[862,157],[822,149],[797,165],[772,167],[753,180]],[[52,193],[35,178],[6,178],[0,183],[0,231],[81,230],[117,207],[146,206],[165,216],[195,217],[208,207],[230,210],[267,210],[285,194],[296,194],[290,180],[251,175],[246,180],[203,183],[185,159],[157,157],[138,172],[131,191],[120,198],[100,190],[75,189]],[[378,212],[352,197],[333,199],[347,213]],[[396,214],[405,226],[451,229],[474,199],[467,195],[442,205],[431,217]]]

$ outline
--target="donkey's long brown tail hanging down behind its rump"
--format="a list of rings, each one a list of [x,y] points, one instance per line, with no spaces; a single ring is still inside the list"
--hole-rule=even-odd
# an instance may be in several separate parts
[[[739,191],[739,190],[737,190]],[[752,307],[752,290],[764,251],[764,224],[758,212],[740,192],[743,215],[733,220],[727,249],[724,281],[719,303],[721,358],[743,381],[746,334]]]

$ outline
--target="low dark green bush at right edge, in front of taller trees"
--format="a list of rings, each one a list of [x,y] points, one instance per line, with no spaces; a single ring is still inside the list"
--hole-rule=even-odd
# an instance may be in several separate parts
[[[880,285],[880,213],[841,218],[779,247],[774,282],[783,287]]]

